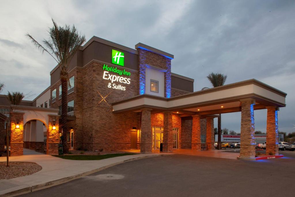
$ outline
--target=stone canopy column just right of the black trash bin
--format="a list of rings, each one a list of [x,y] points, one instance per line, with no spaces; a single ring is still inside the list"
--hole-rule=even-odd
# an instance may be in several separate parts
[[[164,112],[163,152],[173,152],[172,112]]]

